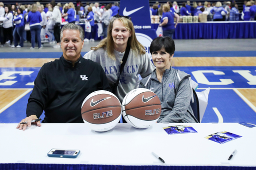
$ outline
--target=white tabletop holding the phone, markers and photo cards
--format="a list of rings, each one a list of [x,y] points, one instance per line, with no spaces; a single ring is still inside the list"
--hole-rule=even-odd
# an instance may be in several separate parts
[[[85,124],[33,125],[25,131],[16,129],[17,124],[0,124],[0,164],[256,167],[256,127],[237,123],[183,124],[198,133],[168,135],[162,127],[170,125],[180,124],[155,124],[148,129],[118,124],[101,133]],[[204,138],[220,131],[242,137],[224,144]],[[78,149],[81,153],[76,159],[49,158],[47,153],[52,148]],[[236,155],[227,161],[235,149]]]

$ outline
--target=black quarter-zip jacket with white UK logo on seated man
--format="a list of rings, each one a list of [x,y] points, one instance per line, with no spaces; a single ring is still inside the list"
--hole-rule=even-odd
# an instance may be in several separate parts
[[[87,95],[96,90],[110,91],[102,67],[80,56],[72,63],[63,56],[45,63],[34,81],[28,99],[26,116],[40,117],[44,123],[83,123],[81,105]]]

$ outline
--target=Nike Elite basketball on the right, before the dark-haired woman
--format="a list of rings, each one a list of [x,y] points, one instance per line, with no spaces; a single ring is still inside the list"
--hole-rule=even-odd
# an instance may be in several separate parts
[[[158,120],[160,114],[161,102],[151,90],[131,90],[122,101],[122,116],[135,128],[148,128]]]

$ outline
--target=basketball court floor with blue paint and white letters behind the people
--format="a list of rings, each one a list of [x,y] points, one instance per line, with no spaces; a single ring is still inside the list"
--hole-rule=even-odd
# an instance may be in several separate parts
[[[191,75],[196,91],[210,87],[202,123],[256,124],[256,39],[174,40],[172,66]],[[98,41],[85,42],[82,56]],[[0,47],[0,123],[25,118],[26,104],[40,67],[61,49]],[[40,118],[43,119],[42,114]]]

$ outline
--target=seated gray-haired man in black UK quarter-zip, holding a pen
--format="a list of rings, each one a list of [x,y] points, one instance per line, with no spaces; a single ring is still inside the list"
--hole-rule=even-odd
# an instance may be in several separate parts
[[[20,121],[27,124],[19,123],[17,129],[30,127],[31,121],[39,118],[43,110],[43,123],[83,123],[81,105],[84,98],[97,90],[110,91],[102,67],[82,58],[83,37],[84,30],[78,25],[68,23],[62,27],[63,54],[41,67],[28,99],[26,118]],[[41,126],[40,122],[33,124]]]

